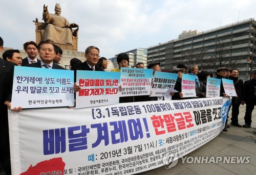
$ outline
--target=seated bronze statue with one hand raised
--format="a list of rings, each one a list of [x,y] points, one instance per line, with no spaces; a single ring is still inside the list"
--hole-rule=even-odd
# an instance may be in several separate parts
[[[47,27],[42,32],[42,40],[49,40],[60,44],[73,45],[73,38],[78,31],[78,25],[76,23],[69,23],[69,21],[60,15],[61,8],[59,4],[55,5],[55,14],[50,14],[48,6],[44,5],[44,11],[42,12],[42,18],[47,23]],[[77,28],[72,31],[72,28]]]

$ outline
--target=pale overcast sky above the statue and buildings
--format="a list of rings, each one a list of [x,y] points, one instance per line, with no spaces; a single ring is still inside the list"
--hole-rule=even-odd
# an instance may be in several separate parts
[[[79,25],[78,51],[95,45],[106,58],[177,39],[185,30],[203,32],[256,17],[253,0],[8,0],[0,5],[4,46],[23,49],[24,42],[35,41],[32,21],[42,22],[44,4],[55,13],[56,3],[63,17]]]

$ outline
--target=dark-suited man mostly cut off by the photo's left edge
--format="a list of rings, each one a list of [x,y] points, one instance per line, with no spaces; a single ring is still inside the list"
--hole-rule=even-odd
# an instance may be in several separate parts
[[[0,37],[0,52],[3,50],[3,39]],[[0,58],[0,162],[6,174],[11,174],[7,105],[11,101],[14,65]]]

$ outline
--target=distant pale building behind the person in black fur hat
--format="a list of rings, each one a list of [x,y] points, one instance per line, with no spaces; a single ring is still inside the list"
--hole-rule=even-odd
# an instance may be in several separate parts
[[[145,67],[147,65],[147,49],[146,48],[135,48],[131,51],[127,51],[125,52],[129,55],[129,60],[130,63],[128,65],[128,67],[133,67],[134,65],[136,65],[139,62],[144,63]],[[118,63],[116,61],[118,54],[115,55],[115,57],[110,58],[110,60],[113,62],[114,67],[118,67]]]

